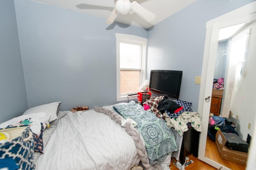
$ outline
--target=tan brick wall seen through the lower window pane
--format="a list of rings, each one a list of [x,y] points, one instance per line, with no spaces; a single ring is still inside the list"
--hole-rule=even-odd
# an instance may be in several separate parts
[[[121,70],[120,93],[138,92],[140,87],[140,70]]]

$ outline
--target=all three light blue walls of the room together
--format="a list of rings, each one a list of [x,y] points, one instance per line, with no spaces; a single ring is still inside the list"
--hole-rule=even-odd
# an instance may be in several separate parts
[[[206,22],[249,2],[197,0],[147,32],[30,0],[1,0],[0,122],[53,101],[62,101],[60,110],[116,103],[115,33],[148,38],[148,77],[151,69],[183,70],[180,99],[197,111]]]

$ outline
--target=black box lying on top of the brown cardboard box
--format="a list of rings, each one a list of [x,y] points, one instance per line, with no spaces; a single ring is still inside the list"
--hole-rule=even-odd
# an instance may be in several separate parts
[[[226,146],[229,149],[237,150],[237,151],[241,151],[241,152],[248,152],[249,144],[246,143],[237,134],[235,134],[235,133],[224,133],[224,132],[222,132],[222,133],[223,133],[223,135],[225,136],[225,138],[227,140]]]

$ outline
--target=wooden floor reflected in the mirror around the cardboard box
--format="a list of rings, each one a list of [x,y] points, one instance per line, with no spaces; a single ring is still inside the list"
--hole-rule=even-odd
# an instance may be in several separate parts
[[[215,142],[212,141],[209,137],[207,137],[205,156],[232,170],[245,170],[245,167],[246,167],[246,166],[236,164],[234,162],[220,158],[220,154],[217,150]]]

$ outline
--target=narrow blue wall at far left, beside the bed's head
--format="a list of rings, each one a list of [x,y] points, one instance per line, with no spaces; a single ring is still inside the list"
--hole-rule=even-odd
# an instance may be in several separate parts
[[[0,0],[0,123],[28,109],[13,0]]]

